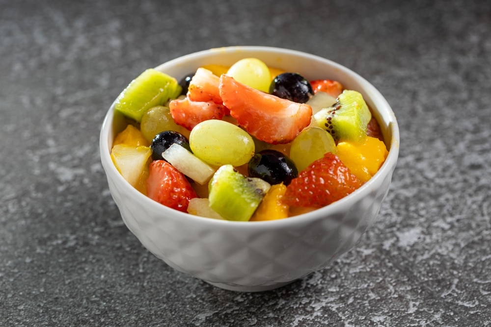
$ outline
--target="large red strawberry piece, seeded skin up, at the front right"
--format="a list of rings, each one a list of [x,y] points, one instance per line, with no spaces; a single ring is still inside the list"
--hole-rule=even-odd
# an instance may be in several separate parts
[[[361,184],[337,155],[327,152],[291,181],[283,199],[290,206],[320,208],[344,198]]]

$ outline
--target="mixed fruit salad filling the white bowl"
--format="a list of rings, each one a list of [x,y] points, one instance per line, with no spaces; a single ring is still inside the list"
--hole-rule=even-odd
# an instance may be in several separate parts
[[[114,102],[127,126],[111,159],[139,192],[192,215],[262,221],[324,207],[388,154],[362,95],[326,78],[257,58],[184,77],[148,69]]]

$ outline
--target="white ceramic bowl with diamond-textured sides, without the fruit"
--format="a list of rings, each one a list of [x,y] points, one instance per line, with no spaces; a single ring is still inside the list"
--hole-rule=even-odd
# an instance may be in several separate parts
[[[319,56],[269,47],[205,50],[171,60],[158,70],[178,80],[206,64],[232,65],[256,57],[307,79],[329,78],[363,94],[379,121],[389,154],[379,172],[349,196],[300,216],[265,222],[231,222],[192,216],[161,205],[134,189],[109,156],[123,119],[111,105],[101,130],[100,150],[109,189],[126,226],[150,252],[178,271],[218,287],[264,291],[325,268],[350,250],[377,218],[399,152],[392,109],[373,85],[353,71]]]

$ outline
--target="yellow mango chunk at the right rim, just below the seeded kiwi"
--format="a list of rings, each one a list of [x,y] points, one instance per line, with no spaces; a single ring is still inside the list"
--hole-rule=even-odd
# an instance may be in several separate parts
[[[363,142],[339,142],[336,154],[360,181],[366,182],[378,172],[388,151],[381,140],[367,136]]]

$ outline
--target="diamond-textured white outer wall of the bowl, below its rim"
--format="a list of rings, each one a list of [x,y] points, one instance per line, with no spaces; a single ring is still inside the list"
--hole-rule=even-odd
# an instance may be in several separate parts
[[[375,188],[347,210],[341,206],[327,217],[245,228],[172,217],[165,214],[171,209],[134,201],[113,182],[109,187],[125,224],[150,252],[179,271],[230,287],[267,287],[325,268],[355,246],[375,221],[386,194],[383,187]]]

